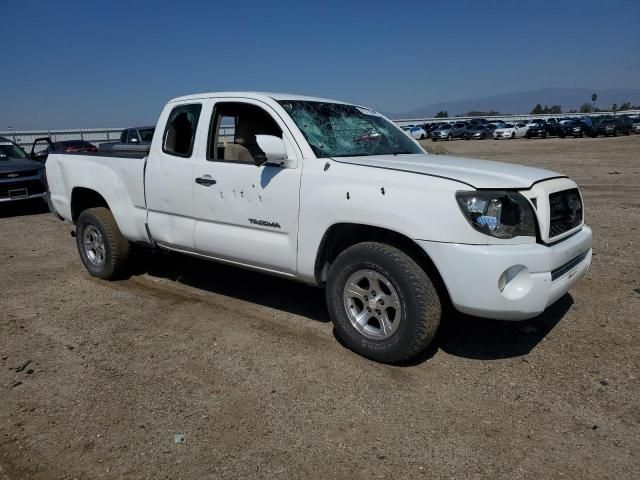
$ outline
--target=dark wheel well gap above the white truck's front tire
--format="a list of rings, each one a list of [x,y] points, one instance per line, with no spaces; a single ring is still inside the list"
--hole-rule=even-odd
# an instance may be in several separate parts
[[[440,272],[433,261],[411,238],[401,233],[370,225],[339,223],[332,225],[324,234],[316,257],[315,276],[318,284],[323,285],[334,260],[347,248],[362,242],[380,242],[391,245],[413,259],[427,272],[435,284],[441,299],[449,298]]]

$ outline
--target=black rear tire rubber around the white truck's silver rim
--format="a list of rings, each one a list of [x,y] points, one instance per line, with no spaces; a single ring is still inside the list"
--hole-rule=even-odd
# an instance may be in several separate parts
[[[97,228],[104,240],[105,260],[99,267],[89,260],[83,243],[84,230],[89,225]],[[126,272],[131,246],[120,233],[118,224],[109,209],[89,208],[80,214],[76,222],[76,245],[82,263],[94,277],[114,280],[121,278]]]

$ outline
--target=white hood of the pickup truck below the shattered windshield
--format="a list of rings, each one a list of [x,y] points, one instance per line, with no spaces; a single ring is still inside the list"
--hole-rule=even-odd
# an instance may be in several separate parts
[[[372,155],[335,157],[336,162],[447,178],[474,188],[528,189],[534,183],[565,177],[541,168],[448,155]]]

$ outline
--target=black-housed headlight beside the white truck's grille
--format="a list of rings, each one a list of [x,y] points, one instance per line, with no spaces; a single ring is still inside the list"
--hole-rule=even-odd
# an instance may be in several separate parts
[[[496,238],[536,235],[531,204],[517,192],[457,192],[456,200],[471,226],[479,232]]]

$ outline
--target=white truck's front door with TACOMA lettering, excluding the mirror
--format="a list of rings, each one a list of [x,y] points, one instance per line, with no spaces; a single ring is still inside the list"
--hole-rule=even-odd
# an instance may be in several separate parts
[[[194,169],[198,252],[270,271],[297,271],[301,153],[269,105],[250,99],[212,99],[206,151]],[[255,136],[283,139],[290,167],[256,166]]]

